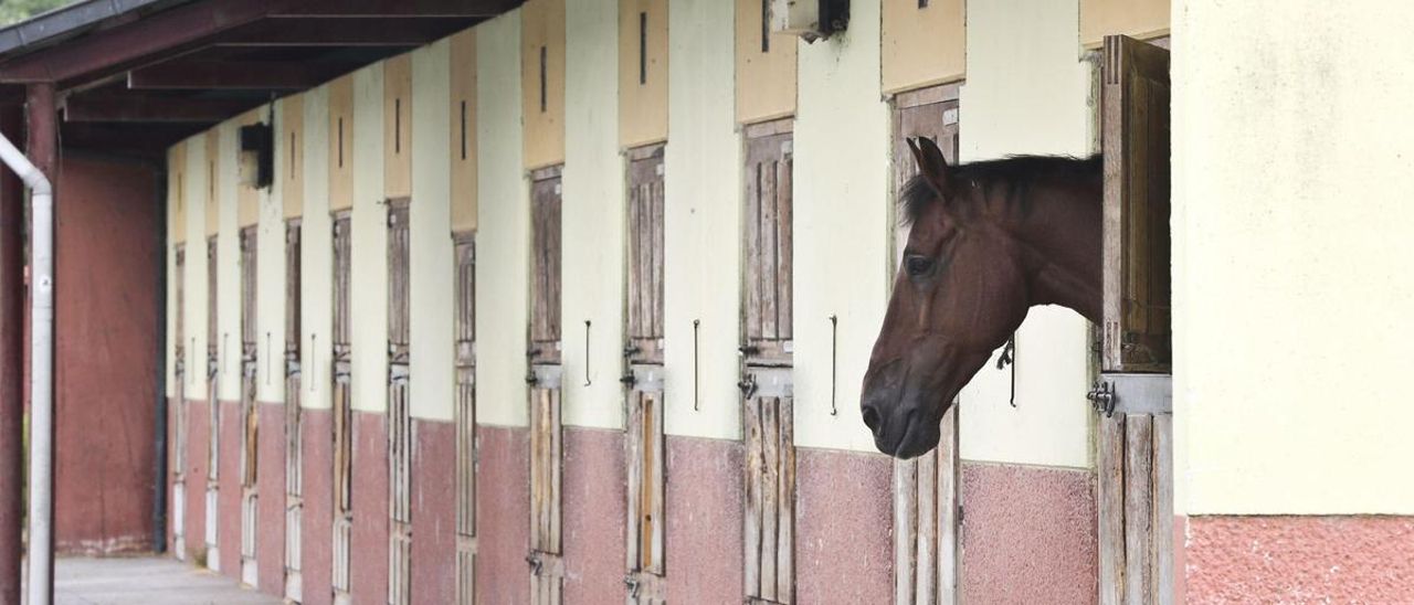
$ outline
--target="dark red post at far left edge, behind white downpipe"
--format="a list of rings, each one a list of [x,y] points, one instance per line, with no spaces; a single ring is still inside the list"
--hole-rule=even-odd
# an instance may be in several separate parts
[[[24,136],[24,110],[0,107],[0,133]],[[0,167],[0,602],[20,602],[24,434],[24,184]]]

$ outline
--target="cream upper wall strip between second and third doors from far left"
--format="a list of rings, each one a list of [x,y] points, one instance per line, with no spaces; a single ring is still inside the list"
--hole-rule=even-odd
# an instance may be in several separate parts
[[[216,143],[216,196],[221,216],[216,221],[216,345],[218,392],[221,399],[240,399],[240,228],[238,226],[236,188],[239,185],[236,120],[226,120],[212,131]],[[202,284],[202,288],[206,286]],[[205,290],[202,290],[205,291]],[[202,327],[201,329],[206,329]]]

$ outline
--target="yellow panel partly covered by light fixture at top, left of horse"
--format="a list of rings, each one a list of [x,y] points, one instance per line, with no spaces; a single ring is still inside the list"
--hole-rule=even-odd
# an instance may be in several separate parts
[[[761,0],[737,0],[737,122],[742,124],[795,113],[796,37],[762,40],[764,20]]]

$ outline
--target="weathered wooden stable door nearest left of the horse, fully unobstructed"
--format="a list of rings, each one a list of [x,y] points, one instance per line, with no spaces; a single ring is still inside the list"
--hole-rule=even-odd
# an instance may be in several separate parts
[[[792,158],[789,122],[747,127],[742,318],[745,589],[749,604],[795,602]]]

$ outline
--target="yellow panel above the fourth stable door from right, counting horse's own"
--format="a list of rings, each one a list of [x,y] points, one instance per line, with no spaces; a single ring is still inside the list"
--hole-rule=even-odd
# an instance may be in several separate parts
[[[619,0],[619,146],[667,139],[667,0]]]

